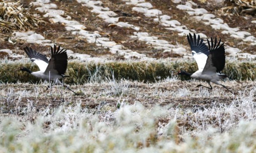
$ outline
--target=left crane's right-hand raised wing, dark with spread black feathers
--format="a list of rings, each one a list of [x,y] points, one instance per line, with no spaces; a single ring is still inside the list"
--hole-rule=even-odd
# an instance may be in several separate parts
[[[64,50],[62,48],[60,50],[60,46],[58,49],[56,49],[56,45],[54,45],[54,50],[52,49],[51,46],[51,53],[52,57],[49,61],[49,65],[45,70],[45,73],[49,73],[49,71],[57,71],[59,75],[64,75],[67,67],[68,67],[68,55],[67,55],[67,50]]]

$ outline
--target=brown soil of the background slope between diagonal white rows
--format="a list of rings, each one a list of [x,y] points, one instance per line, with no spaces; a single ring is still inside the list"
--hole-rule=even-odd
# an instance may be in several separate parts
[[[29,6],[30,0],[22,0],[21,4],[24,7]],[[190,17],[186,11],[179,10],[176,8],[178,4],[174,4],[172,1],[148,1],[154,8],[163,12],[163,14],[169,15],[172,19],[178,20],[181,25],[186,25],[188,29],[194,29],[197,33],[204,33],[207,36],[219,37],[225,41],[225,44],[231,47],[237,47],[243,52],[255,54],[253,46],[248,45],[247,42],[240,43],[241,40],[234,39],[228,34],[222,34],[221,30],[213,30],[211,26],[204,25],[203,22],[198,22],[192,17]],[[247,31],[256,36],[256,29],[253,23],[250,21],[256,20],[254,16],[236,16],[236,15],[227,15],[219,11],[221,6],[212,4],[211,2],[195,1],[198,4],[198,8],[204,8],[209,13],[214,14],[217,17],[221,17],[224,22],[228,23],[230,27],[239,27],[242,31]],[[182,55],[173,54],[173,53],[164,53],[163,50],[156,50],[149,44],[146,44],[144,41],[134,40],[128,36],[133,35],[133,32],[136,32],[132,28],[123,28],[123,27],[111,27],[109,24],[104,22],[103,19],[97,17],[97,13],[92,13],[91,8],[82,6],[82,4],[77,1],[51,1],[51,3],[56,4],[58,9],[65,11],[65,15],[68,15],[72,20],[78,21],[86,27],[87,31],[94,32],[98,31],[101,33],[102,37],[107,37],[110,40],[115,41],[117,44],[124,46],[124,49],[131,49],[132,51],[138,52],[140,54],[145,54],[147,57],[153,58],[167,58],[167,57],[181,57]],[[116,17],[119,17],[119,22],[128,22],[129,24],[139,26],[139,32],[147,32],[152,36],[158,37],[159,40],[167,40],[170,44],[184,45],[188,48],[188,43],[185,36],[178,35],[178,32],[170,31],[165,29],[166,27],[161,24],[154,22],[155,17],[145,17],[142,13],[131,11],[134,5],[127,5],[123,1],[116,0],[102,0],[102,6],[108,7],[109,10],[114,11],[118,14]],[[181,4],[185,4],[181,3]],[[118,55],[113,55],[109,52],[109,49],[106,47],[96,46],[94,43],[88,43],[85,39],[79,38],[76,35],[72,35],[70,32],[66,31],[65,25],[61,23],[50,23],[49,18],[44,18],[44,13],[41,13],[35,10],[38,6],[33,6],[30,9],[31,13],[36,13],[41,16],[41,19],[44,23],[39,24],[37,28],[32,28],[28,30],[34,30],[36,33],[41,34],[45,39],[52,40],[52,43],[60,44],[66,49],[70,49],[75,53],[88,54],[92,57],[108,57],[111,59],[123,59]],[[247,19],[246,19],[247,18]],[[237,22],[237,21],[241,22]],[[16,50],[16,53],[23,55],[22,48],[24,46],[30,46],[40,50],[45,54],[48,53],[48,47],[42,45],[27,43],[26,41],[19,40],[17,43],[12,44],[7,40],[12,36],[12,32],[1,33],[0,34],[0,49],[12,49]],[[1,57],[4,57],[2,55]]]

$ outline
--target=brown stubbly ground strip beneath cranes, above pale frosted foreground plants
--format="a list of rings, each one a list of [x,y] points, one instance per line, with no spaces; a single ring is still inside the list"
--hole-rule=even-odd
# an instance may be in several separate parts
[[[74,91],[81,91],[82,94],[80,95],[74,95],[71,91],[64,90],[64,88],[61,91],[60,86],[53,86],[51,91],[49,89],[46,91],[47,85],[1,84],[0,93],[3,97],[1,99],[2,105],[6,105],[7,97],[10,96],[8,93],[12,90],[11,106],[26,107],[28,102],[32,102],[38,109],[52,106],[52,104],[54,106],[73,105],[77,102],[81,102],[82,107],[91,109],[101,103],[115,109],[117,103],[122,101],[130,105],[139,102],[146,107],[159,104],[161,106],[171,105],[180,108],[204,109],[211,107],[213,103],[230,104],[245,89],[245,94],[249,94],[250,89],[255,86],[255,82],[224,82],[223,84],[231,91],[238,94],[233,95],[215,84],[212,84],[212,90],[197,88],[196,85],[201,83],[177,80],[175,82],[165,81],[156,84],[144,84],[124,81],[70,86]],[[206,83],[203,83],[203,85],[206,85]]]

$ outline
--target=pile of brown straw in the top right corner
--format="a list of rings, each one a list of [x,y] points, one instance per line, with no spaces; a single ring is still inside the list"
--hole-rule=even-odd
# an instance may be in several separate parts
[[[226,7],[222,11],[234,13],[236,15],[251,14],[256,15],[256,0],[225,0]]]

